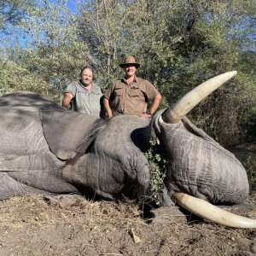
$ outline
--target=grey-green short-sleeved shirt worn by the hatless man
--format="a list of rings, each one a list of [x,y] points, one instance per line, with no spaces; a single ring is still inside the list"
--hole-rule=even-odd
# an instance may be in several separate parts
[[[89,91],[80,81],[74,81],[67,85],[65,92],[73,95],[74,111],[100,116],[102,90],[97,84],[92,83]]]

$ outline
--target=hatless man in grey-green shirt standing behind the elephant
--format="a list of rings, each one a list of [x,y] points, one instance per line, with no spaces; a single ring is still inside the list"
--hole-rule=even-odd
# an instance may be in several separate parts
[[[72,110],[100,116],[102,90],[92,79],[92,68],[83,67],[80,80],[67,85],[61,107],[68,109],[72,101]]]

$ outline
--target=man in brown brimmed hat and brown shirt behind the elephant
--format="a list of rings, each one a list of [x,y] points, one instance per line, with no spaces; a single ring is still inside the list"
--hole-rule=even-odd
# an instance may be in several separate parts
[[[125,78],[113,82],[104,94],[103,106],[108,117],[111,119],[113,115],[123,113],[150,118],[160,104],[160,92],[148,80],[136,77],[140,64],[133,56],[127,56],[119,67],[124,69]],[[148,100],[152,101],[152,105],[147,111]]]

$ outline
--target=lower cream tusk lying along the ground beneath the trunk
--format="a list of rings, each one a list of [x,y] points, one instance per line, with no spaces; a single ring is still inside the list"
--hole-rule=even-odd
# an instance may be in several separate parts
[[[173,201],[196,216],[205,218],[216,224],[226,225],[232,228],[247,229],[256,228],[256,219],[246,218],[231,212],[224,211],[213,206],[207,201],[201,200],[191,195],[177,192],[172,195]]]

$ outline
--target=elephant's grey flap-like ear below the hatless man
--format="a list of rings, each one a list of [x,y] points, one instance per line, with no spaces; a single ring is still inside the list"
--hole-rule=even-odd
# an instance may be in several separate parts
[[[39,113],[49,149],[61,160],[67,160],[77,153],[76,149],[97,119],[96,116],[72,111],[41,110]]]

